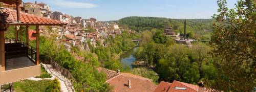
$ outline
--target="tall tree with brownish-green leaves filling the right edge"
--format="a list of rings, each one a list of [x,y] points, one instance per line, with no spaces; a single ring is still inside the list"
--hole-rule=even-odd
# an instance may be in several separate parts
[[[217,1],[219,14],[214,15],[212,55],[218,76],[209,82],[214,89],[249,91],[256,85],[256,1],[239,0],[228,9],[226,0]]]

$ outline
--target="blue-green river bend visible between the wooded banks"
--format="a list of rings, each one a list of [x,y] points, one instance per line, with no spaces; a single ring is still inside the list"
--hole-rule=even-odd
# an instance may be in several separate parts
[[[120,61],[123,65],[130,66],[133,68],[132,64],[134,61],[136,61],[136,58],[134,57],[135,52],[137,51],[138,47],[135,47],[133,49],[130,49],[126,52],[124,52],[122,55],[120,55]]]

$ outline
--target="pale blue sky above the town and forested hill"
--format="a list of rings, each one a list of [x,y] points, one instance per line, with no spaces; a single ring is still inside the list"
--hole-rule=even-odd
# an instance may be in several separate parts
[[[52,11],[101,21],[127,16],[210,18],[218,9],[217,0],[37,0],[40,2],[50,5]],[[236,2],[227,0],[228,7],[234,8]]]

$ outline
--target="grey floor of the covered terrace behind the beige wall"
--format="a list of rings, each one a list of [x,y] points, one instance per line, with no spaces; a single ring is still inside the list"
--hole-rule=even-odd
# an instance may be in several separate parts
[[[28,57],[18,57],[6,60],[6,70],[13,70],[16,68],[22,68],[27,66],[36,65]]]

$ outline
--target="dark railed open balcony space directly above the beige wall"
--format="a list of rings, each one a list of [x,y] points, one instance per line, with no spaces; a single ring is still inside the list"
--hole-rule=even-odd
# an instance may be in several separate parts
[[[36,65],[36,49],[15,39],[5,39],[5,70]]]

